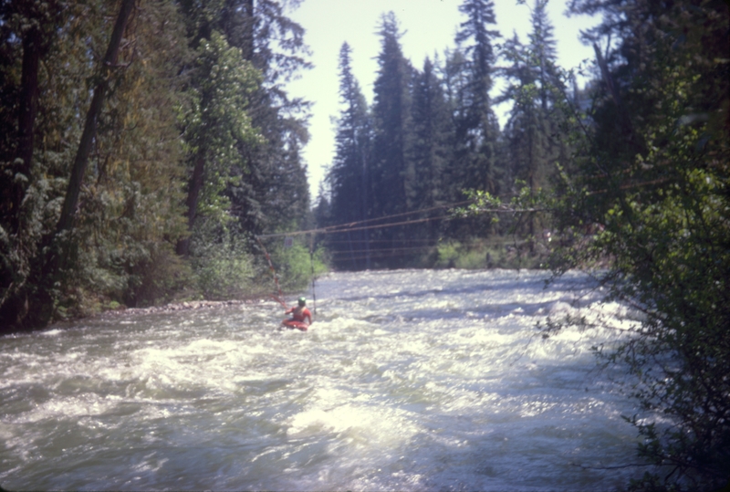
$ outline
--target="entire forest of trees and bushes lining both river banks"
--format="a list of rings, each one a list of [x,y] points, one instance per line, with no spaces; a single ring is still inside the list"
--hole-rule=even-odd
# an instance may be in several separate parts
[[[309,196],[297,0],[0,1],[0,334],[57,319],[283,288],[325,267],[588,268],[638,313],[597,347],[657,426],[658,472],[730,476],[730,13],[724,0],[572,0],[589,83],[464,0],[454,48],[415,67],[392,13],[369,105],[339,51],[336,156]],[[522,2],[525,3],[525,2]],[[506,89],[495,95],[495,81]],[[510,102],[504,128],[495,105]],[[555,319],[543,338],[582,319]],[[652,468],[653,469],[653,468]]]

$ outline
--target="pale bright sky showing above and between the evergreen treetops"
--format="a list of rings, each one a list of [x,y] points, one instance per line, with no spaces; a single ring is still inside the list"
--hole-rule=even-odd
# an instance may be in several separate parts
[[[305,43],[311,51],[314,68],[303,70],[300,78],[288,86],[290,97],[302,97],[313,103],[309,119],[309,142],[302,154],[308,165],[308,181],[312,202],[318,186],[332,162],[335,151],[335,123],[339,116],[339,48],[347,41],[352,48],[351,68],[360,88],[372,102],[372,85],[381,49],[378,26],[381,15],[392,11],[401,25],[401,49],[413,67],[421,69],[426,57],[438,55],[443,60],[446,48],[454,47],[454,37],[464,15],[459,12],[461,0],[303,0],[287,15],[306,30]],[[532,5],[533,0],[527,0]],[[495,0],[496,30],[503,39],[516,33],[527,43],[530,10],[516,0]],[[551,0],[548,16],[557,40],[558,64],[563,68],[578,67],[592,57],[592,47],[579,41],[579,31],[596,25],[600,19],[587,16],[564,16],[566,0]],[[496,85],[493,96],[504,86]],[[509,108],[495,108],[504,125]]]

